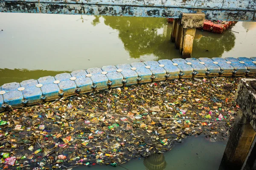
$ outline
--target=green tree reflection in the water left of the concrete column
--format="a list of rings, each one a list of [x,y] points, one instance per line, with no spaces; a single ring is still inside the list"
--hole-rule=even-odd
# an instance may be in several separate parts
[[[165,18],[109,17],[104,23],[119,31],[125,50],[130,57],[154,55],[157,59],[180,57],[170,42],[172,25]]]

